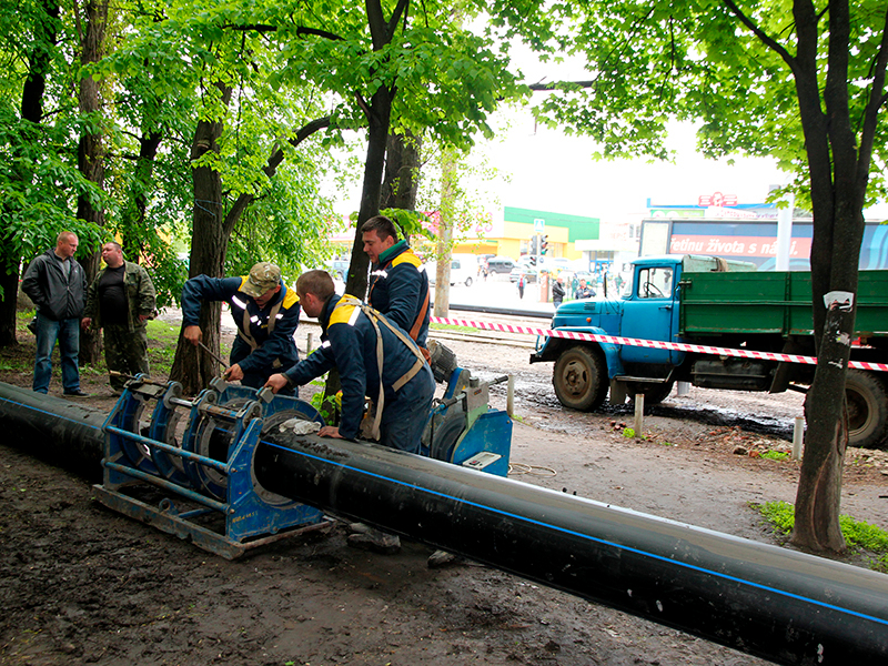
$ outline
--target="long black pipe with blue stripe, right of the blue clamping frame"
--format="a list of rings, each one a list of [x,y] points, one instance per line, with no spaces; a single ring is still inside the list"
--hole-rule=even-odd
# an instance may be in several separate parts
[[[888,664],[888,576],[383,448],[263,435],[258,482],[777,664]]]

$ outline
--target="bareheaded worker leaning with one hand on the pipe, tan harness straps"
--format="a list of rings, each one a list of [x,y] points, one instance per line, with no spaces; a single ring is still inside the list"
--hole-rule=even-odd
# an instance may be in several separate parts
[[[359,299],[335,293],[324,271],[300,275],[296,292],[305,314],[316,316],[324,341],[313,354],[269,379],[274,392],[301,386],[336,367],[342,384],[339,426],[320,435],[379,440],[383,446],[417,453],[432,408],[435,380],[418,346],[403,330]],[[373,408],[364,420],[365,396]]]

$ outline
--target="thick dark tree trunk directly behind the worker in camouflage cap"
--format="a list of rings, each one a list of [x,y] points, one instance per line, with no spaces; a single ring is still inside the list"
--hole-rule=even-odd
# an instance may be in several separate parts
[[[231,100],[231,88],[222,88],[224,103]],[[198,160],[208,152],[219,152],[219,138],[222,122],[201,120],[194,131],[191,159]],[[222,278],[225,265],[228,236],[223,233],[224,205],[222,202],[222,178],[218,171],[206,165],[191,170],[194,184],[194,208],[192,211],[191,261],[189,278],[210,275]],[[200,327],[203,343],[219,354],[220,317],[222,304],[205,302],[201,306]],[[170,371],[170,379],[182,384],[188,395],[196,395],[205,389],[213,377],[219,376],[220,367],[210,354],[184,342],[184,326],[179,332],[179,344]]]

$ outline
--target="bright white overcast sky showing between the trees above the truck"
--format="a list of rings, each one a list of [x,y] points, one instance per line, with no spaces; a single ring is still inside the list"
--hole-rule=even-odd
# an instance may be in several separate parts
[[[553,80],[555,71],[565,80],[588,78],[576,62],[544,64],[527,52],[517,53],[515,62],[527,82]],[[770,159],[736,157],[734,164],[705,159],[695,150],[690,124],[676,123],[669,130],[668,148],[677,153],[674,163],[596,162],[592,139],[536,127],[529,108],[503,108],[491,125],[497,137],[478,141],[470,160],[486,161],[500,178],[475,181],[466,189],[476,200],[492,202],[487,208],[494,219],[501,218],[502,206],[513,206],[599,218],[606,224],[637,222],[646,215],[648,199],[660,205],[696,204],[702,194],[722,192],[736,195],[738,203],[763,203],[770,185],[787,179]],[[337,210],[356,211],[360,191],[359,182],[341,194]],[[888,215],[888,205],[869,213]]]

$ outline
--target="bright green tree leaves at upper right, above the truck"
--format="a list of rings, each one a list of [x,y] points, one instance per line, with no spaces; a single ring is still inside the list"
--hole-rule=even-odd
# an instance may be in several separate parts
[[[775,48],[763,43],[720,0],[653,4],[635,0],[544,4],[529,0],[521,3],[521,11],[509,0],[488,4],[495,17],[492,31],[521,37],[543,58],[564,53],[585,61],[588,74],[583,85],[554,82],[535,113],[541,122],[594,137],[601,143],[598,157],[669,159],[664,142],[667,123],[692,120],[700,123],[698,149],[704,154],[773,157],[783,170],[799,175],[799,183],[807,182],[808,158],[795,81],[798,72],[790,70],[785,59],[798,56],[796,20],[805,13],[794,14],[793,2],[736,2],[738,11]],[[821,92],[830,71],[827,9],[833,7],[824,6],[824,16],[814,26],[819,40],[811,62]],[[848,78],[833,83],[847,87],[850,129],[859,145],[885,29],[885,6],[861,0],[849,2],[848,8]],[[823,101],[821,112],[826,113]],[[870,198],[885,194],[888,124],[884,113],[876,133]]]

